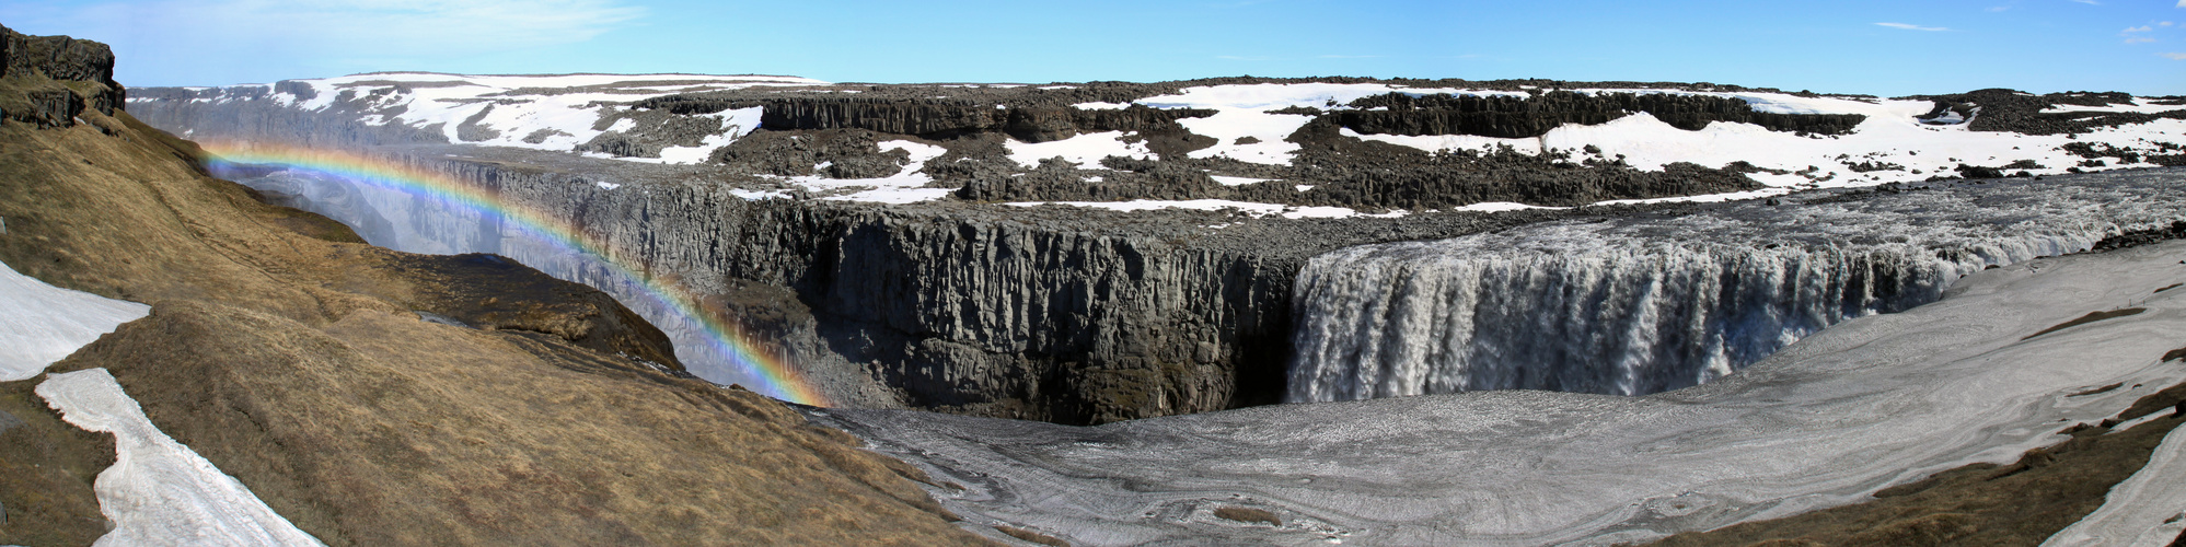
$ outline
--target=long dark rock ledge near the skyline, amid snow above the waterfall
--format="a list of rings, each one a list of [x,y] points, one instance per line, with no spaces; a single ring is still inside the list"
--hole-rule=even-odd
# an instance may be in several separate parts
[[[1491,136],[1535,138],[1567,123],[1600,125],[1635,112],[1685,131],[1709,123],[1751,123],[1771,131],[1845,133],[1867,120],[1858,114],[1775,114],[1753,112],[1738,98],[1683,94],[1578,94],[1546,92],[1517,96],[1449,96],[1449,94],[1384,94],[1351,101],[1353,107],[1331,112],[1336,125],[1360,133],[1397,136]]]

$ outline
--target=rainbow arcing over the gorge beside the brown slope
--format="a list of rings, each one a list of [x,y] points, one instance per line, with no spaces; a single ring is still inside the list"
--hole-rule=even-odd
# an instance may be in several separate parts
[[[632,280],[636,287],[640,287],[643,298],[649,298],[662,309],[682,313],[691,317],[693,324],[704,326],[706,339],[717,352],[728,357],[730,363],[752,372],[750,376],[759,383],[754,385],[754,392],[798,405],[813,405],[813,407],[828,405],[826,396],[811,383],[807,383],[796,368],[765,352],[763,346],[745,337],[743,330],[737,328],[726,317],[719,317],[717,313],[706,313],[700,306],[700,298],[693,291],[669,280],[640,276],[638,269],[614,260],[612,258],[614,254],[608,254],[606,245],[584,236],[584,230],[577,230],[568,221],[509,203],[492,193],[483,193],[448,175],[398,164],[383,158],[369,158],[348,151],[267,144],[267,142],[199,140],[199,147],[205,149],[208,155],[203,160],[212,166],[280,164],[286,168],[319,171],[411,195],[435,197],[448,203],[472,208],[479,214],[496,217],[505,225],[514,225],[542,241],[566,247],[571,252],[599,256],[599,263],[608,265],[608,269],[612,269],[616,276],[623,276]]]

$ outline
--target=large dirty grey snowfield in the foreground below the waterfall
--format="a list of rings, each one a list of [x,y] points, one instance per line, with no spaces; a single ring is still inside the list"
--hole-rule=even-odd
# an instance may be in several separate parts
[[[2151,295],[2186,276],[2182,256],[2186,243],[2164,243],[1976,271],[1943,302],[1852,319],[1655,396],[1471,392],[1104,427],[853,409],[828,420],[962,484],[936,492],[951,512],[1073,545],[1644,543],[2011,462],[2064,440],[2064,424],[2186,381],[2160,361],[2177,346],[2164,333],[2186,328],[2186,293]],[[2026,339],[2125,302],[2147,313]],[[2072,396],[2109,383],[2140,387]],[[2179,477],[2173,464],[2153,473]],[[1198,516],[1220,505],[1283,525]]]

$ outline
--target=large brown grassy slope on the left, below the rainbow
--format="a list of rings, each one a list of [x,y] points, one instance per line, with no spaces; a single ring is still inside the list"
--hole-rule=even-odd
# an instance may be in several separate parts
[[[109,368],[155,424],[332,545],[979,540],[916,470],[839,431],[601,352],[665,337],[597,291],[339,243],[127,114],[83,118],[0,123],[0,260],[155,311],[55,370]],[[37,381],[0,385],[0,409],[46,424],[0,431],[0,470],[61,470],[0,479],[0,543],[83,543],[103,532],[81,514],[111,446],[50,427],[24,398]]]

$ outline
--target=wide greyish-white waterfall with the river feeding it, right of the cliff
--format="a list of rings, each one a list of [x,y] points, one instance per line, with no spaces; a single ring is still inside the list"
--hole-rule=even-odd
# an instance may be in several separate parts
[[[1338,249],[1292,289],[1285,398],[1690,387],[1832,324],[1937,302],[1985,267],[2081,252],[2179,210],[2175,190],[2059,195],[1747,203]]]

